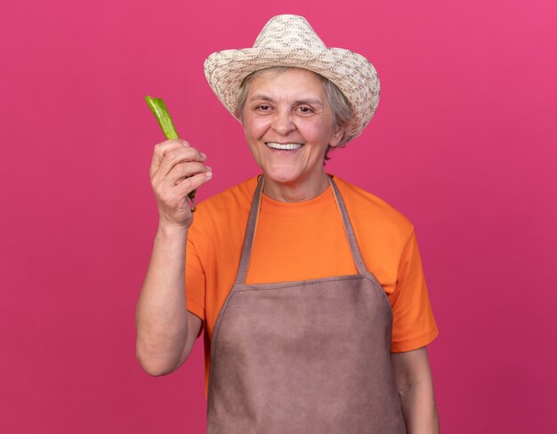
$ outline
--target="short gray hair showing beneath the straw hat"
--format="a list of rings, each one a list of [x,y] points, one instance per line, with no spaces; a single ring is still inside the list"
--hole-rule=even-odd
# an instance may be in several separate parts
[[[244,109],[246,108],[247,91],[249,90],[249,84],[254,81],[254,78],[256,76],[259,76],[262,71],[275,71],[277,73],[281,73],[290,68],[292,67],[264,68],[258,71],[254,71],[249,76],[246,76],[238,89],[238,98],[236,100],[236,109],[234,110],[234,116],[236,116],[242,122],[242,124],[244,123]],[[327,100],[333,111],[333,123],[338,128],[344,129],[343,137],[341,138],[341,141],[337,146],[337,148],[343,148],[346,145],[348,130],[350,129],[350,125],[353,120],[353,110],[343,92],[340,91],[336,84],[334,84],[325,76],[321,76],[319,74],[318,76],[321,79],[323,89],[327,94]],[[327,152],[325,154],[326,160],[330,159],[328,154],[333,149],[335,148],[331,148],[330,146],[327,148]]]

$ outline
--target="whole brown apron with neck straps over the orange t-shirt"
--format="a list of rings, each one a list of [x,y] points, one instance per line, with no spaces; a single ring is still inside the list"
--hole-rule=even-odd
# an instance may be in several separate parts
[[[255,190],[236,283],[214,325],[208,434],[406,433],[391,305],[331,185],[359,274],[246,285],[261,180]]]

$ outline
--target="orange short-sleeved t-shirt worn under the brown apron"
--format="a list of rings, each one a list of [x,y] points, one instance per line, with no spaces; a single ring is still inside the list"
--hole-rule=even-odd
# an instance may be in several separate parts
[[[367,269],[392,306],[392,352],[432,342],[437,325],[412,224],[383,200],[335,177]],[[204,321],[206,380],[214,323],[236,280],[257,179],[198,204],[186,250],[188,310]],[[331,187],[301,203],[262,195],[246,284],[358,274]]]

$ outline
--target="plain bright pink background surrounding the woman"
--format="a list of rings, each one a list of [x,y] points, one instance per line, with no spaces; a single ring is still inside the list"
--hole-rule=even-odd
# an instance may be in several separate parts
[[[23,0],[0,9],[0,432],[205,429],[202,342],[164,378],[134,358],[162,141],[143,95],[209,156],[199,197],[253,176],[202,64],[285,12],[379,71],[375,119],[327,170],[416,224],[442,430],[555,426],[553,0]]]

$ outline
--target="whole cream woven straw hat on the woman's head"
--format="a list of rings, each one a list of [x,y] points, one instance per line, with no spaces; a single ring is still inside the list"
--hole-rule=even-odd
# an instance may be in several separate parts
[[[346,141],[357,137],[375,114],[379,78],[373,65],[356,52],[327,48],[310,23],[297,15],[271,18],[253,48],[214,52],[205,61],[205,75],[218,99],[234,116],[244,78],[273,67],[309,69],[336,84],[354,114]]]

